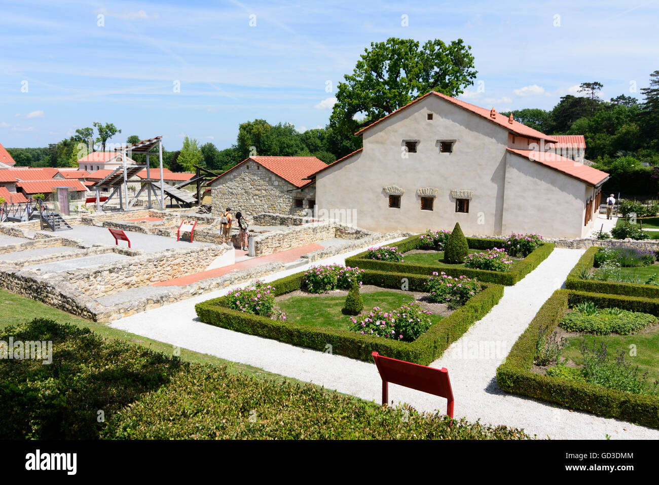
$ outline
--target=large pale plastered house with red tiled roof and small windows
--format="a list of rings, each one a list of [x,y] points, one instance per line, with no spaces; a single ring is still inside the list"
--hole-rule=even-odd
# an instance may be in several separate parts
[[[465,234],[581,238],[608,179],[556,153],[575,141],[439,92],[357,135],[360,150],[308,179],[320,218],[351,213],[354,224],[379,232],[451,230],[459,222]]]

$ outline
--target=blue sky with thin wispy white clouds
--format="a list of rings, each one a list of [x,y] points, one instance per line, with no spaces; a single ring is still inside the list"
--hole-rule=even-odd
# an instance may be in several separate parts
[[[585,81],[639,96],[659,69],[658,22],[657,0],[3,0],[0,143],[46,146],[94,121],[122,129],[113,142],[163,135],[168,150],[185,135],[226,148],[255,118],[324,127],[327,81],[389,37],[465,40],[478,76],[461,98],[498,111],[552,108]]]

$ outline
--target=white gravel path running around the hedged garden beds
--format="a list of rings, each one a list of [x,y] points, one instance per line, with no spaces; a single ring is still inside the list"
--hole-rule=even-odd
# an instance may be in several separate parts
[[[345,257],[360,251],[363,249],[315,264],[342,263]],[[582,254],[583,250],[555,249],[530,275],[515,286],[505,288],[500,303],[463,338],[454,342],[442,358],[431,364],[449,370],[456,398],[456,418],[465,416],[473,421],[480,418],[484,423],[525,428],[531,435],[552,439],[605,439],[606,435],[612,439],[659,439],[659,430],[509,395],[496,385],[496,368],[540,306],[561,287]],[[262,279],[272,281],[297,271],[299,269],[292,269]],[[370,362],[324,354],[198,321],[194,304],[221,296],[228,290],[138,313],[114,321],[111,326],[379,402],[381,380]],[[483,346],[483,350],[487,347],[488,352],[478,355],[473,351],[474,346]],[[445,410],[444,399],[397,385],[389,385],[389,399],[412,404],[418,410]]]

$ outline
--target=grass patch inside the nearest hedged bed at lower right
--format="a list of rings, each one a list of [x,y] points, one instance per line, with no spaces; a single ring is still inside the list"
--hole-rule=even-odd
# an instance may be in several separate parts
[[[634,366],[639,366],[641,373],[648,372],[648,381],[654,382],[659,379],[659,331],[653,331],[647,334],[632,335],[605,335],[594,336],[584,335],[588,346],[592,348],[592,340],[603,341],[608,347],[611,358],[616,358],[617,351],[625,350],[625,359]],[[563,357],[571,358],[576,364],[583,364],[579,344],[581,337],[569,337],[567,344],[563,349]],[[630,356],[629,352],[635,345],[636,356]]]

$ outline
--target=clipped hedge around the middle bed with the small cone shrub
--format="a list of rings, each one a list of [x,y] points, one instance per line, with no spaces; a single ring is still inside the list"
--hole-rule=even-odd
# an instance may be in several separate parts
[[[304,272],[301,272],[270,283],[275,288],[275,295],[299,290],[302,287],[303,275]],[[366,270],[362,274],[364,284],[398,289],[405,284],[407,289],[413,291],[423,290],[428,278],[429,276],[372,270]],[[225,329],[316,350],[328,350],[329,344],[333,354],[368,362],[372,360],[371,352],[376,351],[387,357],[428,365],[440,357],[442,352],[453,341],[459,339],[475,321],[486,315],[503,296],[503,286],[498,284],[483,284],[483,286],[484,290],[473,296],[465,306],[432,325],[430,330],[414,342],[378,339],[348,330],[318,329],[291,321],[277,321],[243,313],[229,309],[225,297],[198,303],[195,309],[201,321]]]

